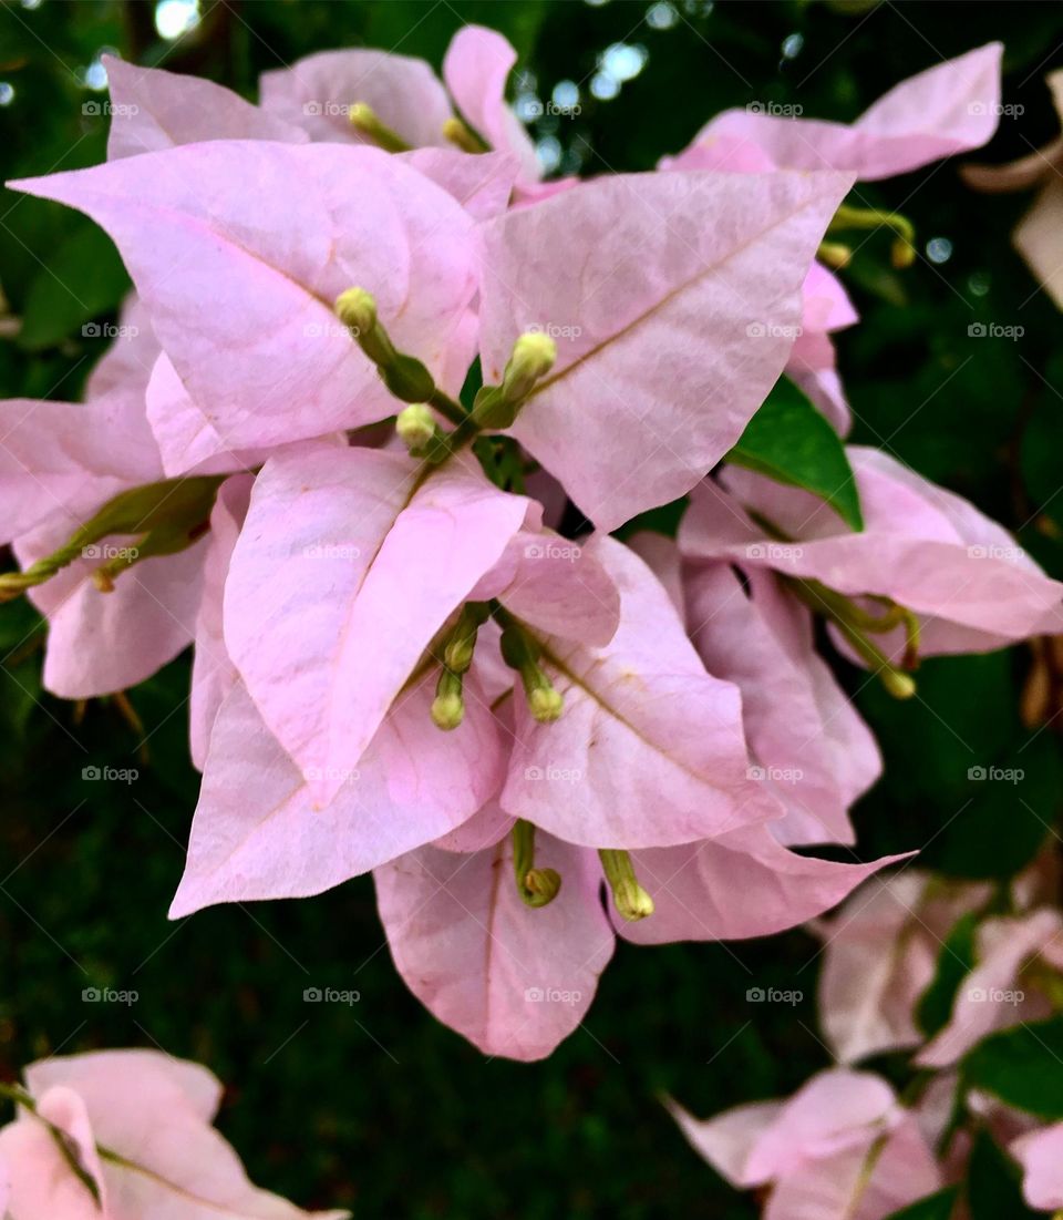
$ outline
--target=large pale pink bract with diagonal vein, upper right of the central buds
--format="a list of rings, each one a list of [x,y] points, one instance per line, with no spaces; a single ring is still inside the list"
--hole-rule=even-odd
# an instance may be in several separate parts
[[[512,432],[599,528],[688,492],[738,440],[851,182],[618,174],[488,222],[484,377],[522,332],[556,337]]]

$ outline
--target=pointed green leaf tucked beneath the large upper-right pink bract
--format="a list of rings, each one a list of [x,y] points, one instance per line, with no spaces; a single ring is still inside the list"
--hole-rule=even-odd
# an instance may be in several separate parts
[[[845,445],[802,392],[785,377],[750,420],[727,461],[827,500],[847,526],[863,515]]]

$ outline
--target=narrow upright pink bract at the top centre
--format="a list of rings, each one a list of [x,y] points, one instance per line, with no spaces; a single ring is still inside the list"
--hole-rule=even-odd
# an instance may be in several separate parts
[[[462,116],[496,151],[512,152],[521,177],[542,176],[535,145],[524,124],[506,105],[506,81],[517,52],[494,29],[463,26],[451,39],[443,60],[443,78]]]

